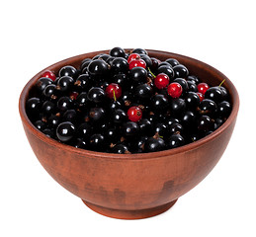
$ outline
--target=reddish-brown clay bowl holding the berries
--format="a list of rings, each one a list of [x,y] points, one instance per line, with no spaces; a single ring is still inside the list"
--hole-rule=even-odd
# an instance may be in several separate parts
[[[62,66],[78,67],[85,57],[109,50],[74,56],[45,69],[57,72]],[[231,81],[212,66],[199,60],[157,50],[150,56],[165,60],[174,57],[203,81],[224,86],[230,94],[232,112],[212,134],[179,148],[145,154],[110,154],[61,144],[37,130],[26,115],[25,104],[43,71],[25,86],[19,103],[26,135],[47,173],[66,190],[80,197],[103,215],[138,219],[162,213],[197,186],[213,169],[232,134],[239,98]]]

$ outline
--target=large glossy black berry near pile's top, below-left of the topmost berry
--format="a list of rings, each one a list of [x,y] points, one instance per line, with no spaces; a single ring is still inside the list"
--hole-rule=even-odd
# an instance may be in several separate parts
[[[88,65],[88,73],[95,79],[107,76],[109,73],[109,64],[103,59],[96,59]]]

